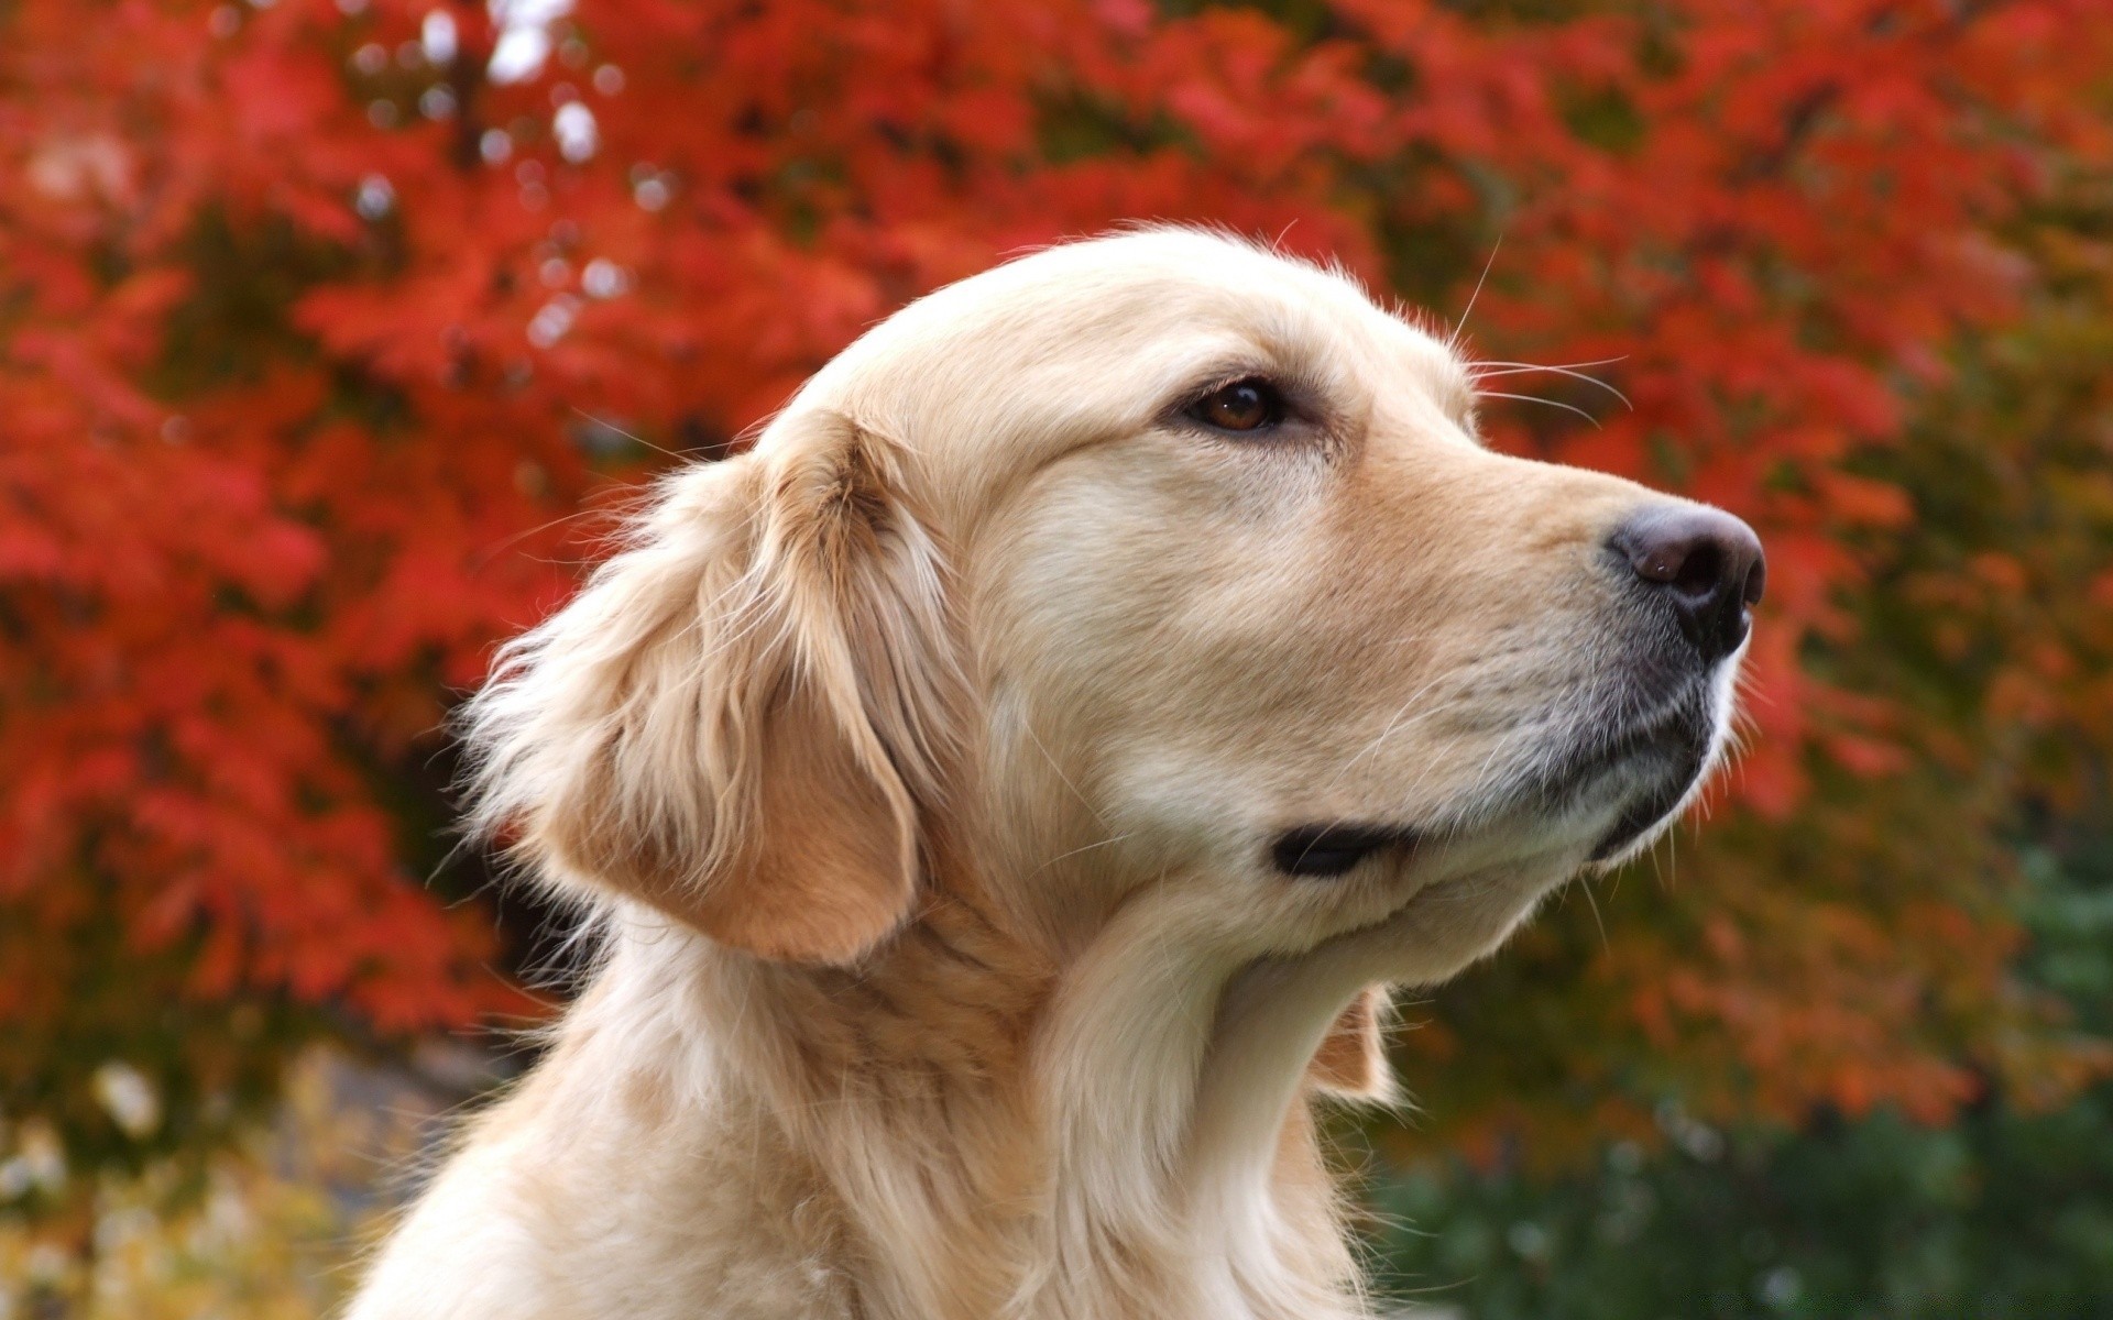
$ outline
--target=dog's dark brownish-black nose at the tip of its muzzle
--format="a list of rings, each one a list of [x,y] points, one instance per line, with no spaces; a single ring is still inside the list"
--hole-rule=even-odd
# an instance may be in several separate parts
[[[1754,528],[1720,509],[1654,505],[1621,524],[1608,545],[1671,602],[1682,636],[1705,665],[1745,640],[1745,608],[1769,581]]]

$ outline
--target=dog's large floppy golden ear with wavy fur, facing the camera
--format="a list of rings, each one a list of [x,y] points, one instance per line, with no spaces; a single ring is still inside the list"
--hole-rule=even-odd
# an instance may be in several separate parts
[[[473,815],[558,885],[759,957],[847,963],[909,912],[959,680],[894,450],[833,412],[670,477],[469,703]]]

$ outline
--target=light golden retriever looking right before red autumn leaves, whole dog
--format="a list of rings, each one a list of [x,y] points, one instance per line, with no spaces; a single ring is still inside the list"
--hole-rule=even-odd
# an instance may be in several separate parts
[[[911,304],[469,705],[602,957],[351,1316],[1365,1314],[1312,1096],[1680,811],[1760,583],[1488,452],[1340,272],[1143,230]]]

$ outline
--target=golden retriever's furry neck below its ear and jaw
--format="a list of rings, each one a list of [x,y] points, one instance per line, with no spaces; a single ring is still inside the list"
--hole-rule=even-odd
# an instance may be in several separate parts
[[[904,1314],[1357,1314],[1304,1064],[1236,1079],[1274,1121],[1221,1149],[1198,1117],[1226,1107],[1207,1094],[1223,969],[1109,936],[1059,972],[976,887],[947,885],[856,969],[663,929],[619,934],[617,957],[680,942],[693,984],[668,988],[718,1026],[714,1088],[748,1092],[847,1223],[885,1238],[862,1255],[896,1274]]]

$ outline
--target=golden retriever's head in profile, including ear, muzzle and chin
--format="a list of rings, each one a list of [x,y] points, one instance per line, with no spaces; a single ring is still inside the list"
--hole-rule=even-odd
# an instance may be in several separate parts
[[[866,957],[953,857],[1059,965],[1435,980],[1678,815],[1760,585],[1726,513],[1485,450],[1348,279],[1099,239],[670,477],[471,705],[480,815],[763,959]]]

